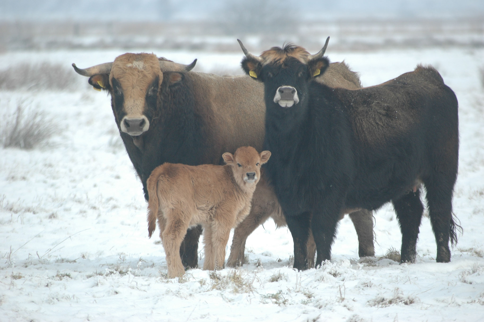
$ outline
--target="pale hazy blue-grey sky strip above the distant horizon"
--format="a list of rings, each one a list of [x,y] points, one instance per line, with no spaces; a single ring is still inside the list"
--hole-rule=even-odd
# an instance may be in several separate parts
[[[262,0],[0,0],[1,20],[217,20],[233,3]],[[266,0],[302,18],[480,16],[484,0]],[[272,4],[271,3],[271,4]]]

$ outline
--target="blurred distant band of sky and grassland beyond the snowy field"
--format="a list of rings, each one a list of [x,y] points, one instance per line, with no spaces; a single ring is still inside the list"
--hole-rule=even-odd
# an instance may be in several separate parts
[[[484,46],[482,0],[0,0],[0,50]]]

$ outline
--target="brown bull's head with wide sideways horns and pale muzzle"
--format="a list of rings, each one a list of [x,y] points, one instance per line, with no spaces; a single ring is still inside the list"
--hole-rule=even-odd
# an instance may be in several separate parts
[[[73,67],[78,74],[90,77],[89,84],[94,89],[105,89],[111,94],[111,105],[120,131],[139,136],[148,131],[159,107],[163,73],[186,72],[195,67],[196,62],[182,65],[158,60],[153,54],[126,53],[113,62],[86,69],[79,69],[75,64]],[[175,73],[170,77],[182,76]]]

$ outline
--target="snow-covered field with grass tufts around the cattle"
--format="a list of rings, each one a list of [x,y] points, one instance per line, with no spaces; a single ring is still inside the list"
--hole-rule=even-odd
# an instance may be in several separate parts
[[[4,52],[0,70],[27,61],[84,68],[124,52]],[[181,63],[197,58],[197,71],[241,73],[242,52],[154,52]],[[2,120],[24,102],[56,129],[32,150],[0,147],[0,321],[483,321],[484,49],[356,53],[334,52],[330,43],[327,54],[360,72],[364,86],[417,63],[433,64],[456,93],[461,145],[454,213],[464,233],[450,263],[436,263],[426,216],[416,263],[383,258],[401,242],[393,209],[385,206],[375,214],[377,258],[358,261],[347,216],[332,262],[296,272],[290,233],[268,221],[247,240],[248,265],[167,279],[158,231],[148,239],[142,186],[110,100],[78,76],[69,91],[0,91]]]

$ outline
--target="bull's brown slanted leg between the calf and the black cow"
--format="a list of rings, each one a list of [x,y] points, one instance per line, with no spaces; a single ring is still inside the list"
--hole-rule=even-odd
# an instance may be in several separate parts
[[[234,237],[232,238],[232,245],[230,246],[230,255],[228,256],[227,266],[236,267],[245,264],[245,242],[247,237],[263,224],[271,215],[270,207],[254,204],[250,210],[249,215],[235,228]]]

